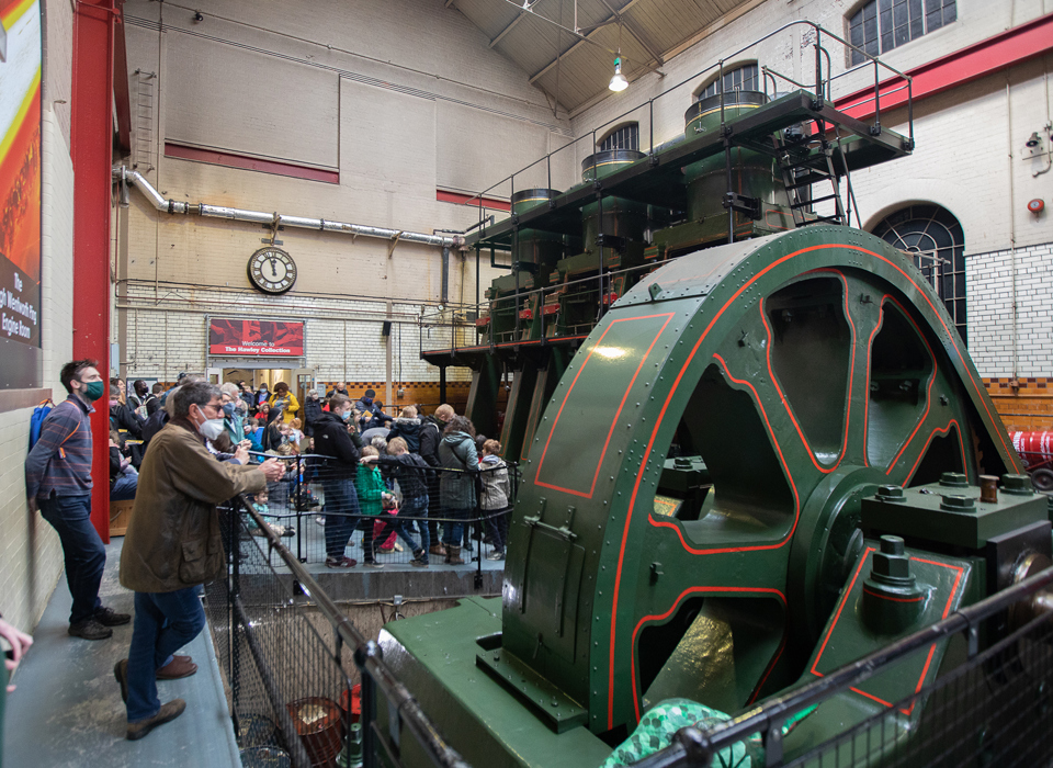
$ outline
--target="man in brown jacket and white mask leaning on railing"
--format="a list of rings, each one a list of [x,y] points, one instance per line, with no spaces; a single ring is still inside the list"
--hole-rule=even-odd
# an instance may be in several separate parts
[[[113,674],[127,707],[132,741],[186,708],[182,699],[161,705],[155,675],[205,625],[196,587],[226,566],[216,505],[263,490],[283,474],[273,459],[259,467],[222,463],[205,448],[205,438],[215,440],[223,432],[219,387],[186,384],[170,399],[172,419],[143,459],[121,552],[121,584],[135,591],[135,625],[128,658],[117,662]],[[189,657],[181,658],[189,664]]]

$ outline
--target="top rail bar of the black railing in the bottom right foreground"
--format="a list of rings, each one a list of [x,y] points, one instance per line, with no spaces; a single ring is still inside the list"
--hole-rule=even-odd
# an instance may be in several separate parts
[[[870,677],[883,671],[915,651],[931,643],[967,632],[967,657],[972,659],[978,653],[978,630],[981,624],[1011,605],[1053,585],[1053,567],[1046,568],[1019,584],[992,595],[980,602],[959,609],[947,619],[913,632],[905,637],[886,645],[859,660],[827,673],[801,688],[761,702],[747,712],[733,718],[706,731],[686,727],[678,731],[672,743],[647,757],[632,764],[633,768],[673,768],[675,766],[709,766],[710,760],[722,749],[740,743],[760,733],[765,735],[768,749],[768,764],[781,761],[782,723],[793,715],[814,707],[830,696],[858,686]],[[1022,630],[1045,617],[1033,619]]]

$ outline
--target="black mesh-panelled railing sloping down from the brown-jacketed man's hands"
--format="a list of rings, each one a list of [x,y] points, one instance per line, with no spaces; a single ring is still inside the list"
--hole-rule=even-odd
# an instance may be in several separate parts
[[[376,643],[248,500],[233,499],[220,518],[228,574],[206,585],[204,600],[242,765],[400,766],[399,745],[414,738],[432,765],[467,768]],[[253,535],[253,526],[262,537]],[[271,564],[274,554],[281,572]],[[388,722],[381,729],[376,713],[384,705]]]

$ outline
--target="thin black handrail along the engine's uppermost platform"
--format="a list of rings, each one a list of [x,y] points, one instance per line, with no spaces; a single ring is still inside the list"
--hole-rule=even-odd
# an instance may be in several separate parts
[[[702,76],[704,76],[704,75],[707,75],[709,72],[711,72],[711,71],[714,70],[714,69],[716,69],[716,70],[718,70],[718,71],[722,72],[725,61],[733,60],[733,59],[736,58],[737,56],[740,56],[741,54],[744,54],[744,53],[746,53],[747,50],[749,50],[750,48],[752,48],[752,47],[755,47],[755,46],[757,46],[757,45],[760,45],[761,43],[770,39],[771,37],[778,35],[778,34],[780,34],[780,33],[782,33],[782,32],[785,32],[786,30],[790,30],[791,27],[796,26],[796,25],[799,25],[799,24],[803,24],[803,25],[805,25],[805,26],[808,26],[808,27],[815,30],[815,33],[816,33],[816,41],[815,41],[815,43],[814,43],[814,45],[816,46],[816,69],[815,69],[815,76],[816,76],[816,77],[815,77],[814,87],[815,87],[815,89],[816,89],[816,95],[819,97],[820,99],[823,98],[824,83],[828,83],[828,82],[831,81],[831,80],[836,80],[836,79],[841,78],[841,77],[843,77],[843,76],[846,76],[846,75],[848,75],[848,74],[850,74],[850,72],[859,71],[859,70],[862,69],[863,67],[873,65],[873,67],[874,67],[874,98],[873,98],[873,101],[875,102],[875,124],[874,124],[875,129],[880,131],[880,128],[881,128],[881,88],[880,88],[880,84],[881,84],[881,83],[880,83],[880,71],[881,71],[881,69],[884,69],[884,70],[886,70],[886,71],[888,71],[888,72],[892,72],[893,75],[896,75],[896,76],[903,78],[903,79],[906,81],[906,88],[907,88],[907,113],[908,113],[907,123],[908,123],[908,132],[909,132],[909,133],[908,133],[908,138],[910,139],[910,144],[912,144],[912,146],[913,146],[913,145],[914,145],[914,89],[913,89],[914,78],[912,78],[912,77],[910,77],[909,75],[907,75],[906,72],[903,72],[903,71],[896,69],[895,67],[893,67],[893,66],[891,66],[891,65],[888,65],[888,64],[885,64],[884,61],[882,61],[881,59],[879,59],[876,56],[873,56],[873,55],[867,53],[867,52],[863,50],[862,48],[859,48],[859,47],[852,45],[852,44],[849,43],[847,39],[845,39],[843,37],[837,35],[837,34],[835,34],[835,33],[833,33],[833,32],[830,32],[829,30],[827,30],[827,29],[824,27],[823,25],[816,24],[815,22],[808,21],[807,19],[799,19],[799,20],[796,20],[796,21],[788,22],[788,23],[783,24],[782,26],[779,26],[779,27],[777,27],[775,30],[772,30],[772,31],[769,32],[768,34],[766,34],[766,35],[763,35],[763,36],[761,36],[761,37],[758,37],[757,39],[755,39],[755,41],[752,41],[752,42],[750,42],[750,43],[747,43],[746,45],[744,45],[744,46],[743,46],[741,48],[739,48],[738,50],[736,50],[736,52],[734,52],[734,53],[732,53],[732,54],[728,54],[728,55],[726,55],[726,56],[723,56],[717,63],[710,65],[709,67],[706,67],[706,68],[704,68],[704,69],[695,72],[695,74],[692,75],[691,77],[681,80],[680,82],[676,83],[675,86],[670,86],[669,88],[667,88],[666,90],[661,91],[660,93],[652,97],[652,98],[648,99],[647,101],[643,101],[643,102],[641,102],[639,104],[637,104],[636,106],[634,106],[634,108],[632,108],[632,109],[630,109],[630,110],[626,110],[625,112],[622,112],[622,113],[619,114],[616,117],[612,117],[611,120],[608,120],[605,123],[602,123],[602,124],[598,125],[597,127],[595,127],[595,128],[590,132],[591,137],[592,137],[592,153],[596,154],[596,151],[597,151],[597,144],[596,144],[596,135],[597,135],[597,132],[602,131],[603,128],[605,128],[605,127],[609,126],[609,125],[616,124],[619,121],[622,121],[623,118],[627,117],[627,116],[631,115],[633,112],[636,112],[637,110],[641,110],[641,109],[647,106],[647,108],[650,110],[650,114],[652,114],[650,150],[649,150],[648,154],[654,155],[654,153],[655,153],[654,102],[655,102],[655,101],[657,101],[658,99],[661,99],[663,97],[671,93],[672,91],[675,91],[675,90],[677,90],[677,89],[679,89],[679,88],[682,88],[683,86],[688,84],[689,82],[691,82],[691,81],[693,81],[693,80],[697,80],[697,79],[699,79],[700,77],[702,77]],[[853,50],[853,52],[856,52],[857,54],[859,54],[860,56],[862,56],[863,58],[869,59],[869,64],[863,63],[863,64],[860,64],[860,65],[850,67],[849,69],[845,70],[843,72],[839,72],[838,75],[828,75],[827,78],[824,80],[824,78],[823,78],[822,61],[820,61],[820,58],[819,58],[819,57],[820,57],[822,55],[825,55],[825,56],[827,57],[827,63],[828,63],[827,69],[828,69],[828,70],[831,70],[833,67],[829,65],[829,61],[830,61],[829,52],[826,50],[826,48],[824,48],[824,47],[822,46],[822,36],[823,36],[823,35],[826,35],[827,37],[837,41],[838,43],[840,43],[841,45],[843,45],[845,47],[847,47],[849,50]],[[722,82],[722,88],[721,88],[721,91],[720,91],[720,97],[721,97],[721,125],[722,125],[722,127],[723,127],[724,124],[725,124],[725,123],[724,123],[724,116],[723,116],[723,115],[724,115],[723,77],[721,78],[721,82]],[[902,88],[901,88],[901,89],[896,89],[896,91],[898,91],[898,90],[902,90]],[[896,91],[893,91],[893,92],[896,92]],[[868,102],[869,102],[869,101],[871,101],[871,100],[868,100]],[[864,102],[864,103],[865,103],[865,102]],[[531,168],[533,168],[534,166],[536,166],[537,163],[540,163],[542,160],[544,160],[544,161],[546,162],[546,165],[547,165],[547,179],[548,179],[547,185],[548,185],[548,188],[551,189],[551,188],[552,188],[552,161],[551,161],[551,158],[552,158],[554,155],[563,151],[564,149],[567,149],[568,147],[573,147],[573,146],[577,145],[577,144],[581,140],[581,138],[585,138],[585,137],[582,136],[582,137],[579,137],[579,138],[576,138],[576,139],[571,140],[571,142],[568,142],[567,144],[563,145],[562,147],[559,147],[559,148],[557,148],[557,149],[548,153],[547,155],[544,155],[543,157],[534,160],[534,161],[531,162],[530,165],[521,168],[520,170],[510,173],[509,176],[505,177],[505,178],[501,179],[500,181],[498,181],[498,182],[496,182],[496,183],[494,183],[494,184],[490,184],[489,187],[487,187],[487,188],[486,188],[485,190],[483,190],[482,192],[478,192],[477,194],[468,197],[466,201],[464,201],[464,203],[462,203],[462,205],[472,206],[472,207],[478,207],[478,210],[479,210],[479,217],[480,217],[480,221],[482,221],[482,218],[483,218],[483,211],[484,211],[484,207],[486,207],[486,206],[484,206],[484,197],[486,196],[486,194],[487,194],[488,192],[491,192],[492,190],[497,189],[498,187],[501,187],[501,185],[505,184],[506,182],[510,182],[510,183],[512,184],[512,190],[513,190],[513,192],[514,192],[514,183],[516,183],[516,182],[514,182],[514,179],[516,179],[516,177],[519,176],[520,173],[523,173],[524,171],[530,170]],[[474,203],[473,201],[478,201],[478,204],[476,205],[476,203]]]

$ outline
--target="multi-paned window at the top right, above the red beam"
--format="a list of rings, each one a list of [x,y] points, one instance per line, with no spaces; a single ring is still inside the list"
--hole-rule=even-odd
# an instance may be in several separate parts
[[[848,39],[871,56],[917,39],[958,19],[954,0],[871,0],[852,14]],[[865,57],[853,50],[852,64]]]

